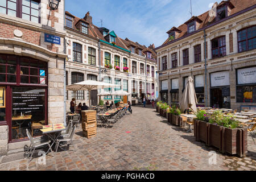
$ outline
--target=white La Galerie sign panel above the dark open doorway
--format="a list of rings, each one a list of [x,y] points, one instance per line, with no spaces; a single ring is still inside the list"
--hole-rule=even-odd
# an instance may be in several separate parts
[[[229,86],[229,71],[210,73],[210,86]]]

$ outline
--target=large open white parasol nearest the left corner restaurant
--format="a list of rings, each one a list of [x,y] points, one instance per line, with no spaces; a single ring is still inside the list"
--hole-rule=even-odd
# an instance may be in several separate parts
[[[117,85],[100,82],[100,81],[85,80],[85,81],[78,82],[76,84],[68,85],[66,86],[66,89],[73,91],[75,93],[75,98],[76,98],[76,92],[78,90],[87,90],[89,92],[89,107],[90,107],[90,91],[101,89],[101,88],[109,88],[111,86],[117,86]]]

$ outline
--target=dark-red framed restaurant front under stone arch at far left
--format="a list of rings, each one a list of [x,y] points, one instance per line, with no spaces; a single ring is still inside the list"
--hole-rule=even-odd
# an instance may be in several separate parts
[[[26,140],[26,129],[40,135],[48,123],[47,63],[0,54],[0,86],[0,125],[8,125],[9,142]]]

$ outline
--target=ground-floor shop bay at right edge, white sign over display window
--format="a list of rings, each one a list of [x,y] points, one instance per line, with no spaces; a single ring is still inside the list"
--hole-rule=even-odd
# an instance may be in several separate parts
[[[241,109],[255,109],[256,106],[256,67],[236,70],[237,75],[237,102]]]

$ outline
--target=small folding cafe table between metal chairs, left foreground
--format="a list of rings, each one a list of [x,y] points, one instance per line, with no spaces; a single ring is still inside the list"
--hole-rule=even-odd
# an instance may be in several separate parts
[[[44,135],[47,135],[47,137],[49,137],[52,141],[51,147],[53,146],[53,144],[56,144],[56,140],[57,138],[60,137],[61,131],[66,130],[66,127],[64,126],[63,123],[61,124],[55,124],[53,125],[45,125],[43,126],[43,129],[40,129],[42,131],[42,133]],[[50,149],[48,149],[47,152],[49,152]]]

